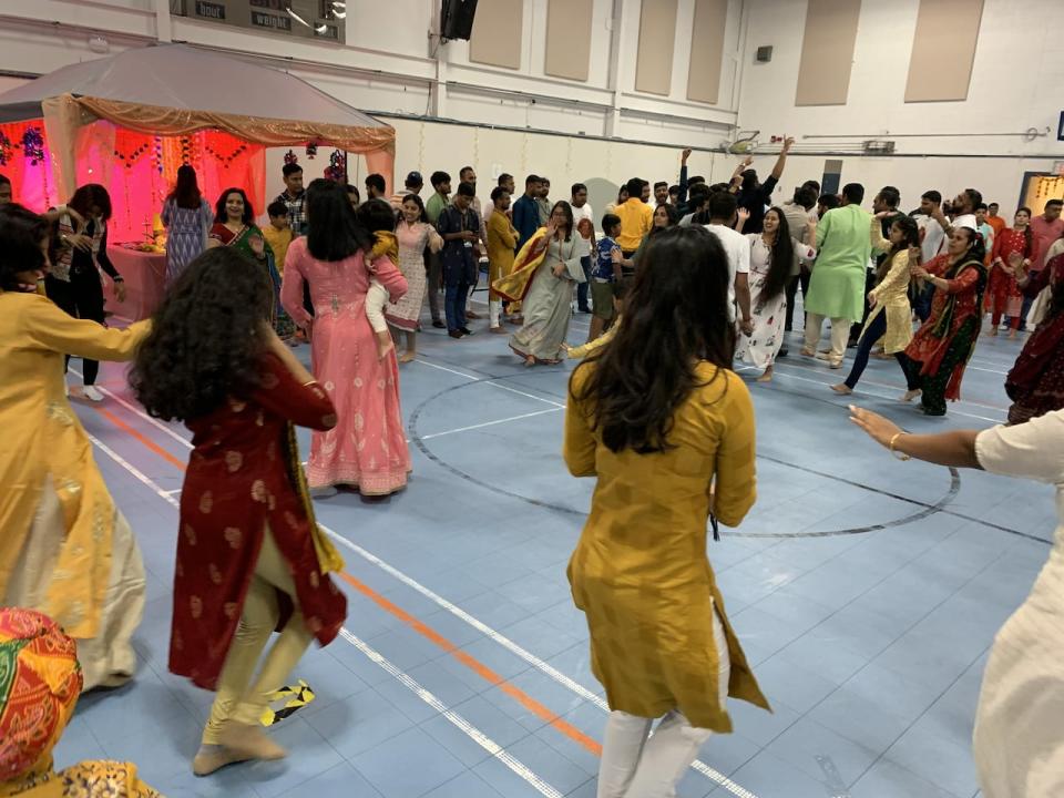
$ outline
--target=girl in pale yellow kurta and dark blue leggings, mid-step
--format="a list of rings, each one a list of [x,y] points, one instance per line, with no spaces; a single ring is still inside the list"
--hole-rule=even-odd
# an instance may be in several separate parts
[[[869,225],[872,249],[887,257],[879,265],[879,282],[868,293],[868,306],[871,308],[868,320],[861,330],[857,344],[853,367],[846,381],[831,386],[831,390],[843,396],[852,393],[864,368],[868,356],[876,342],[882,338],[883,354],[893,355],[901,365],[909,390],[919,388],[906,369],[906,347],[912,340],[912,308],[909,305],[909,255],[920,252],[920,232],[917,223],[909,216],[898,216],[890,225],[890,238],[883,238],[882,223],[888,211],[872,216]]]

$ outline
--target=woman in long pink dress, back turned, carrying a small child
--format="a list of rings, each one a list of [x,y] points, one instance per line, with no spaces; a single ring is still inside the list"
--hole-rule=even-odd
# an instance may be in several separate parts
[[[288,247],[280,301],[307,331],[314,375],[338,416],[334,429],[311,436],[307,482],[311,488],[349,485],[364,495],[387,495],[406,487],[410,450],[399,408],[396,352],[377,357],[366,291],[375,276],[397,301],[407,293],[407,280],[387,256],[367,263],[372,236],[356,222],[342,186],[314,181],[306,207],[309,231]],[[314,316],[303,307],[305,282],[310,284]]]

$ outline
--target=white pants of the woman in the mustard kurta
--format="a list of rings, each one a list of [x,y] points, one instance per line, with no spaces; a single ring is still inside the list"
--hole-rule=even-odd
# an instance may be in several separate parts
[[[713,640],[719,658],[720,706],[728,699],[732,661],[724,625],[713,611]],[[676,784],[713,734],[695,728],[679,710],[673,710],[651,735],[652,718],[624,712],[610,713],[598,766],[598,798],[671,798]],[[649,736],[649,739],[647,737]]]

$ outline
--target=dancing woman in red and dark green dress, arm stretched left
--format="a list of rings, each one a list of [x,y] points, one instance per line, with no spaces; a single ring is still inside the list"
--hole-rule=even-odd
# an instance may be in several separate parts
[[[912,276],[934,286],[931,316],[906,348],[910,375],[920,388],[906,400],[921,395],[923,412],[945,416],[947,399],[961,398],[961,379],[975,348],[986,288],[986,257],[983,237],[971,227],[959,227],[949,249],[928,264],[918,264]]]

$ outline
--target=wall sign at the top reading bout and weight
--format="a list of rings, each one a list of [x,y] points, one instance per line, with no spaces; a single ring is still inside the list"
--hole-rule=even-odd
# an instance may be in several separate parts
[[[170,12],[287,37],[342,42],[347,3],[337,0],[170,0]]]

